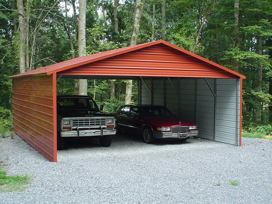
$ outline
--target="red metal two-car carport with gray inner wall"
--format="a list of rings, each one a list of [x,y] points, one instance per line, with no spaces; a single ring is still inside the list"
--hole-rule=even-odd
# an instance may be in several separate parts
[[[196,122],[199,137],[241,146],[245,76],[163,40],[110,50],[12,76],[13,131],[57,161],[59,78],[137,79],[139,104],[165,105]]]

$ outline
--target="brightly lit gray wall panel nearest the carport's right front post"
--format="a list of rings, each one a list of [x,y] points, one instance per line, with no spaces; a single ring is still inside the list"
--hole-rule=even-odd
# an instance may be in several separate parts
[[[216,88],[217,120],[215,140],[236,144],[236,124],[238,120],[236,79],[217,79]]]

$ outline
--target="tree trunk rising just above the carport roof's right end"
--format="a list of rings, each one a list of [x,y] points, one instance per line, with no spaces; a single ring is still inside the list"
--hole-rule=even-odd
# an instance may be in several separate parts
[[[238,36],[238,31],[239,31],[239,0],[235,0],[234,2],[234,48],[239,47],[239,36]],[[239,64],[237,62],[237,58],[233,59],[233,70],[238,72],[239,71]]]

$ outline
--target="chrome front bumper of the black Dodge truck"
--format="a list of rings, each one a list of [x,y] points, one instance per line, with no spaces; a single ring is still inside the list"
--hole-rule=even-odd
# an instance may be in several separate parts
[[[95,137],[102,135],[115,135],[116,130],[104,130],[101,129],[96,130],[79,130],[79,131],[66,131],[61,132],[61,137]]]

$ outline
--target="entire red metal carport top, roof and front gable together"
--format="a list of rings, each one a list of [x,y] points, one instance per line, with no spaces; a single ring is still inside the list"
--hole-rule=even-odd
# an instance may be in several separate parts
[[[104,67],[103,67],[104,65]],[[121,65],[121,67],[120,67]],[[124,66],[125,65],[125,66]],[[159,66],[160,65],[160,66]],[[176,76],[169,69],[158,71],[150,70],[150,73],[145,68],[160,69],[170,68],[173,72],[178,71],[180,77],[218,77],[218,78],[245,78],[245,76],[227,69],[221,65],[211,62],[203,57],[188,52],[182,48],[174,46],[163,40],[158,40],[150,43],[109,50],[97,54],[78,57],[35,69],[25,73],[17,74],[12,77],[21,77],[25,75],[35,75],[41,73],[58,73],[66,75],[130,75],[130,76]],[[203,68],[203,66],[205,68]],[[88,67],[88,70],[82,70],[82,67]],[[131,68],[134,67],[134,70]],[[119,68],[122,68],[120,71]],[[140,69],[139,69],[140,68]],[[92,69],[97,69],[93,71]],[[102,70],[105,69],[105,70]],[[110,70],[107,70],[110,69]],[[128,69],[127,71],[124,69]],[[204,73],[192,73],[205,69]],[[184,72],[187,70],[187,72]],[[208,71],[209,70],[209,71]],[[217,73],[212,74],[215,71]],[[223,73],[224,72],[224,73]],[[125,74],[126,73],[126,74]],[[142,75],[142,73],[144,75]],[[203,75],[204,74],[204,75]],[[205,75],[207,74],[207,75]]]

